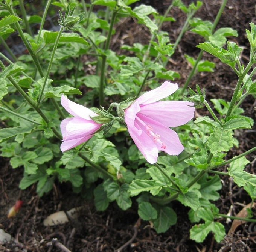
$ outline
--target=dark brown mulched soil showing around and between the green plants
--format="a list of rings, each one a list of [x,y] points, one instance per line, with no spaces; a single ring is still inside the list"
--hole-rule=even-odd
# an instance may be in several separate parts
[[[143,1],[141,1],[143,2]],[[170,1],[152,0],[144,1],[151,4],[160,13],[163,13]],[[184,1],[188,4],[190,1]],[[197,13],[197,17],[213,22],[219,6],[220,0],[204,1],[204,5]],[[172,16],[177,22],[164,24],[163,30],[168,31],[171,41],[174,42],[178,36],[185,15],[174,8],[171,11]],[[229,0],[224,13],[219,21],[217,28],[232,27],[239,33],[239,37],[232,38],[239,46],[244,47],[241,61],[248,62],[249,44],[245,36],[245,29],[249,29],[249,22],[256,23],[255,1],[254,0]],[[137,25],[134,20],[128,18],[120,20],[116,24],[116,34],[113,36],[114,50],[119,51],[123,43],[132,44],[134,42],[147,43],[149,33],[147,28]],[[168,63],[168,68],[180,73],[178,80],[180,86],[185,82],[191,69],[188,66],[184,54],[197,57],[199,50],[195,46],[203,42],[197,35],[187,32],[177,48],[177,51]],[[232,96],[237,81],[236,75],[232,70],[216,60],[209,54],[204,53],[204,59],[213,60],[216,63],[216,69],[213,73],[197,74],[190,84],[193,88],[197,83],[200,87],[205,87],[207,100],[211,98],[223,98],[229,101]],[[248,115],[254,120],[256,102],[251,96],[245,99],[242,107],[245,110],[244,115]],[[199,114],[206,114],[203,109],[197,111]],[[227,158],[241,154],[244,151],[256,145],[256,127],[251,130],[242,130],[236,132],[240,142],[239,149],[232,148]],[[251,153],[247,156],[251,165],[247,167],[251,173],[256,173],[256,154]],[[120,251],[126,252],[194,252],[194,251],[256,251],[256,233],[251,230],[250,223],[244,224],[238,228],[233,237],[227,236],[221,243],[214,241],[213,235],[209,234],[203,243],[195,243],[189,239],[189,229],[192,224],[189,222],[187,212],[188,208],[179,202],[173,202],[173,208],[177,213],[177,225],[172,226],[164,234],[156,234],[150,227],[150,223],[141,221],[136,213],[136,202],[133,202],[133,208],[128,211],[121,211],[115,204],[110,205],[104,213],[96,212],[93,203],[73,194],[72,188],[65,184],[56,183],[54,189],[47,195],[39,198],[35,193],[35,187],[27,190],[18,189],[18,184],[23,176],[21,168],[12,169],[8,159],[0,159],[0,228],[14,237],[15,241],[9,244],[0,245],[1,252],[7,251],[70,251],[73,252],[113,252],[122,247]],[[225,171],[222,167],[220,171]],[[223,188],[220,191],[221,198],[216,205],[221,213],[236,215],[244,205],[250,203],[247,193],[238,188],[232,180],[222,177]],[[7,219],[8,209],[14,205],[17,199],[22,199],[24,205],[21,211],[13,219]],[[43,220],[49,214],[59,210],[69,210],[73,207],[83,205],[81,215],[78,220],[70,220],[64,225],[54,227],[43,226]],[[221,220],[229,231],[232,221]],[[132,238],[130,245],[126,245]],[[53,242],[53,239],[58,239]],[[60,246],[65,247],[61,248]]]

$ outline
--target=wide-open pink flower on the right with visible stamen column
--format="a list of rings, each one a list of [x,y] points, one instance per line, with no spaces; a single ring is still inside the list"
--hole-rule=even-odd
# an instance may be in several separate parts
[[[177,127],[194,117],[194,104],[187,101],[160,101],[178,89],[177,84],[165,81],[160,87],[140,96],[125,109],[125,123],[134,143],[149,163],[156,163],[158,151],[178,155],[183,151]],[[188,106],[189,105],[189,106]]]

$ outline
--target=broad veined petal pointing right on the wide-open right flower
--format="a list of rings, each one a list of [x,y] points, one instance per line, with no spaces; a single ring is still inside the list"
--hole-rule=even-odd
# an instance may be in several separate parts
[[[189,105],[189,106],[188,106]],[[195,107],[187,101],[162,101],[140,105],[139,114],[145,115],[168,127],[186,124],[194,117]]]

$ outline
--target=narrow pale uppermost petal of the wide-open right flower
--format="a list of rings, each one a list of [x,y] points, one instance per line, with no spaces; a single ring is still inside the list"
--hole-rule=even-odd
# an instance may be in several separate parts
[[[160,87],[153,89],[149,92],[141,95],[137,102],[138,104],[147,104],[151,102],[159,101],[172,93],[174,93],[178,89],[178,84],[170,83],[169,81],[165,81]]]

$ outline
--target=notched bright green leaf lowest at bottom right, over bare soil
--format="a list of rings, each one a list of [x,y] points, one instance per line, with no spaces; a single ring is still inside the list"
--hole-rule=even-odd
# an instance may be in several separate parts
[[[190,229],[190,239],[196,242],[203,242],[207,234],[214,233],[214,238],[217,242],[221,242],[224,239],[225,227],[219,222],[206,221],[204,224],[198,224]]]

